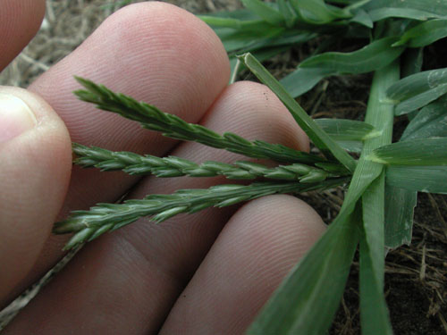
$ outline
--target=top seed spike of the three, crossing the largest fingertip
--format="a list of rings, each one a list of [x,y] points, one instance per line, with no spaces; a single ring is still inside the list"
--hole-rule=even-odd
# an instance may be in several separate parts
[[[249,141],[231,132],[223,135],[194,123],[183,121],[178,116],[164,113],[153,105],[138,102],[131,96],[114,93],[103,85],[76,77],[86,89],[74,92],[80,100],[97,105],[97,108],[118,113],[127,119],[139,121],[143,128],[156,130],[169,138],[195,141],[208,147],[216,147],[253,158],[267,158],[282,163],[325,163],[324,158],[303,153],[280,144],[264,141]]]

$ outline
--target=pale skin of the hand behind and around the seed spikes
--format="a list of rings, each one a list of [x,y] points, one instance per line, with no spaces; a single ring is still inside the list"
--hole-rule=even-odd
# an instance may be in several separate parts
[[[2,6],[0,70],[36,33],[45,1]],[[0,88],[37,119],[0,143],[2,307],[63,255],[67,237],[50,231],[70,211],[114,202],[130,189],[127,197],[135,198],[228,182],[72,168],[71,140],[196,162],[241,158],[98,112],[72,95],[79,88],[73,75],[219,133],[308,150],[308,138],[268,88],[228,86],[228,58],[205,23],[169,4],[125,7],[27,90]],[[316,212],[291,196],[182,214],[160,225],[139,220],[84,247],[4,333],[240,334],[324,230]]]

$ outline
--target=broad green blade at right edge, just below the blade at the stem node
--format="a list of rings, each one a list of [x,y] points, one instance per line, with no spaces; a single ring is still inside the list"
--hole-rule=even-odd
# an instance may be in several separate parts
[[[447,194],[447,166],[389,165],[386,183],[418,192]]]

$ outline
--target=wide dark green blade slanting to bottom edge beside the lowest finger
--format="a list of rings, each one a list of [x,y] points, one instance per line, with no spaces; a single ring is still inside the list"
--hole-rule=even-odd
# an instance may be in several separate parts
[[[331,326],[358,244],[360,211],[339,216],[276,289],[247,334],[320,335]]]

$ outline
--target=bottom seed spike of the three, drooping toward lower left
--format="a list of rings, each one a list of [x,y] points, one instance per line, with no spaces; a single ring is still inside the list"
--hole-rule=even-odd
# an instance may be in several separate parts
[[[272,194],[333,188],[348,180],[349,178],[337,178],[315,183],[257,181],[248,186],[217,185],[206,189],[181,189],[171,195],[149,195],[144,199],[127,200],[122,204],[97,204],[89,211],[74,211],[63,222],[56,222],[53,232],[75,232],[64,247],[70,249],[144,216],[152,216],[151,220],[154,222],[163,222],[176,214],[192,214],[208,207],[234,205]]]

